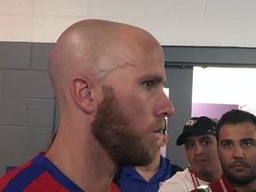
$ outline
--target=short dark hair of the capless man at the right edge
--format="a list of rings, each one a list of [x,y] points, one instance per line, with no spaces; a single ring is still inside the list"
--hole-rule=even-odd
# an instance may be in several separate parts
[[[219,140],[220,128],[225,124],[252,123],[256,126],[256,116],[239,109],[232,109],[220,117],[216,128],[216,138]]]

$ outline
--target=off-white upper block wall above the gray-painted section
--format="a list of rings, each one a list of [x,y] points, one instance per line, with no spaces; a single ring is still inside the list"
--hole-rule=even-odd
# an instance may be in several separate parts
[[[256,46],[255,0],[0,0],[0,41],[56,42],[71,23],[116,20],[163,45]]]

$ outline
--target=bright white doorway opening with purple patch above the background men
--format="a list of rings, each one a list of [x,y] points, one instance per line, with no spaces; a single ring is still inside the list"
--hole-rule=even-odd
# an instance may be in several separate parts
[[[256,115],[256,68],[193,68],[191,116],[220,119],[228,110]]]

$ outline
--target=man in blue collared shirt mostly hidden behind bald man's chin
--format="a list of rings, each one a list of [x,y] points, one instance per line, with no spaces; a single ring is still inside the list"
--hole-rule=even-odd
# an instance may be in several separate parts
[[[166,146],[169,140],[166,128],[165,122],[163,132],[159,132],[158,153],[151,164],[126,166],[116,172],[114,182],[122,192],[156,192],[164,180],[170,179],[177,171],[183,171],[180,166],[173,164],[170,159],[161,155],[161,148]]]

